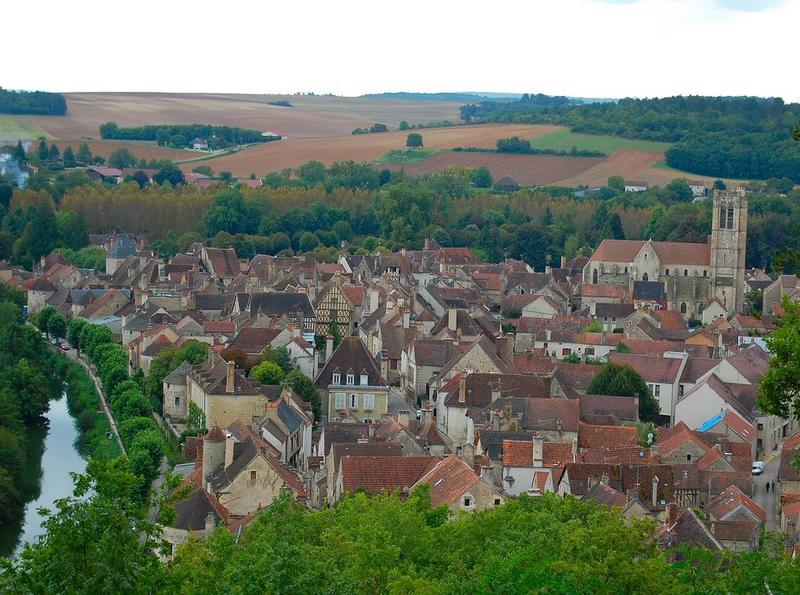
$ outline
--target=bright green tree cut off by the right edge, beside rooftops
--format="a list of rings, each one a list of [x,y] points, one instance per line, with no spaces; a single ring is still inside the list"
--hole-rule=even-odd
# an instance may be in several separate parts
[[[784,297],[778,328],[766,338],[773,357],[758,387],[759,407],[783,418],[800,416],[800,302]],[[752,347],[751,349],[758,349]]]

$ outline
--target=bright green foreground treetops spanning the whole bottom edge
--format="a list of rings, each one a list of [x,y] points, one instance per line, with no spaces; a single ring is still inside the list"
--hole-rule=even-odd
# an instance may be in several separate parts
[[[3,564],[0,590],[792,593],[800,582],[800,566],[775,537],[763,537],[756,552],[665,550],[655,520],[591,501],[523,494],[451,517],[431,505],[426,486],[405,498],[345,495],[323,510],[284,493],[243,531],[192,539],[166,564],[156,552],[171,552],[124,468],[90,463],[76,485],[47,519],[46,538]]]

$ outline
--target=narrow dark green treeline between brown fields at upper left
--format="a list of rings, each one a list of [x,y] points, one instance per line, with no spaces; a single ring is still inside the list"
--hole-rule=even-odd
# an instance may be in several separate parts
[[[224,149],[236,145],[268,143],[280,136],[264,136],[258,130],[235,126],[210,124],[148,124],[121,128],[116,122],[100,125],[100,137],[110,140],[155,141],[160,146],[184,148],[196,138],[208,142],[211,149]]]

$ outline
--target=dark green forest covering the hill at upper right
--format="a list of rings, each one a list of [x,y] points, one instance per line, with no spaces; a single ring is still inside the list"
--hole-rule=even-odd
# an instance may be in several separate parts
[[[667,165],[697,174],[800,183],[792,131],[800,104],[779,98],[666,97],[582,105],[482,102],[461,108],[465,122],[562,124],[574,132],[674,143]]]

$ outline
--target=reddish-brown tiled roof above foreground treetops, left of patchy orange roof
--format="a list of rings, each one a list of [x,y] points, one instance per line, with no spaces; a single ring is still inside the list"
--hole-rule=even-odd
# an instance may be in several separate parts
[[[342,486],[346,492],[364,489],[369,492],[393,492],[411,488],[440,457],[343,457]]]

